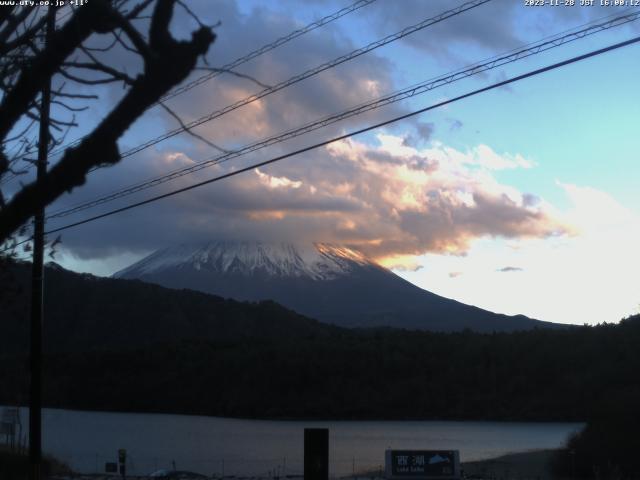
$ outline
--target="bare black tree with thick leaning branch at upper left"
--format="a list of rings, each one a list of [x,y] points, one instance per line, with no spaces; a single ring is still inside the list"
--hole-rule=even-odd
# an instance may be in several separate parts
[[[91,0],[73,10],[46,46],[39,41],[46,12],[0,7],[0,180],[20,174],[24,162],[30,161],[35,142],[26,132],[39,121],[38,97],[47,79],[58,80],[52,103],[69,114],[51,119],[50,148],[61,144],[76,126],[75,114],[86,108],[78,102],[96,98],[87,89],[114,82],[125,88],[119,102],[81,142],[62,153],[42,182],[21,186],[8,201],[0,192],[0,244],[39,208],[82,185],[90,170],[117,163],[117,140],[196,68],[215,34],[198,20],[199,28],[189,40],[176,40],[169,28],[176,5],[193,16],[180,0]],[[99,46],[96,37],[102,39]],[[114,49],[134,54],[140,73],[130,76],[119,68],[113,55],[109,58]],[[78,91],[74,85],[83,88]]]

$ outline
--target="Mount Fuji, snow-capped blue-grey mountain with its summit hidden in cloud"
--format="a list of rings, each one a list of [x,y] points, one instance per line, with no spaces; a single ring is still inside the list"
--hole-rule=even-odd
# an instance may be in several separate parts
[[[323,243],[178,245],[158,250],[114,277],[236,300],[274,300],[343,327],[493,332],[559,326],[441,297],[355,250]]]

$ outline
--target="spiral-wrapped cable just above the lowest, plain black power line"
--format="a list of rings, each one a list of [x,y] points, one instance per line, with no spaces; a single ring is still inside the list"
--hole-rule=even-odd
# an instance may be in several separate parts
[[[65,217],[68,215],[71,215],[73,213],[78,213],[80,211],[89,209],[89,208],[93,208],[96,207],[98,205],[102,205],[104,203],[108,203],[110,201],[116,200],[118,198],[122,198],[128,195],[132,195],[134,193],[140,192],[142,190],[146,190],[148,188],[152,188],[155,186],[158,186],[160,184],[169,182],[171,180],[175,180],[177,178],[183,177],[185,175],[189,175],[191,173],[203,170],[204,168],[208,168],[212,165],[217,165],[226,161],[229,161],[233,158],[237,158],[240,157],[242,155],[246,155],[248,153],[251,152],[255,152],[257,150],[260,150],[262,148],[266,148],[272,145],[275,145],[277,143],[281,143],[283,141],[298,137],[300,135],[318,130],[320,128],[326,127],[328,125],[337,123],[339,121],[345,120],[347,118],[351,118],[357,115],[361,115],[363,113],[369,112],[371,110],[375,110],[377,108],[381,108],[383,106],[386,105],[390,105],[392,103],[396,103],[402,100],[405,100],[407,98],[412,98],[414,96],[417,95],[421,95],[423,93],[426,93],[428,91],[431,91],[435,88],[444,86],[444,85],[448,85],[450,83],[453,83],[455,81],[470,77],[472,75],[476,75],[482,72],[486,72],[488,70],[500,67],[502,65],[508,64],[508,63],[513,63],[516,62],[518,60],[522,60],[523,58],[527,58],[530,57],[532,55],[537,55],[541,52],[545,52],[547,50],[550,50],[552,48],[556,48],[559,47],[561,45],[564,45],[566,43],[569,42],[573,42],[575,40],[579,40],[581,38],[584,38],[586,36],[589,35],[593,35],[595,33],[598,32],[602,32],[604,30],[607,30],[609,28],[613,28],[619,25],[623,25],[625,23],[629,23],[632,21],[636,21],[638,18],[640,18],[640,12],[638,13],[634,13],[634,14],[629,14],[629,15],[624,15],[621,17],[616,17],[612,20],[609,20],[607,22],[603,22],[603,23],[599,23],[597,25],[593,25],[591,27],[579,30],[579,31],[575,31],[566,35],[563,35],[561,37],[556,37],[556,38],[551,38],[550,40],[544,41],[544,42],[535,42],[530,44],[531,46],[527,47],[527,48],[521,48],[519,50],[514,50],[512,53],[509,53],[507,55],[504,56],[498,56],[498,57],[493,57],[492,59],[485,61],[484,63],[476,63],[473,64],[470,67],[467,67],[465,69],[461,69],[461,70],[457,70],[454,71],[453,73],[449,73],[449,74],[445,74],[445,75],[441,75],[439,77],[435,77],[432,78],[430,80],[427,80],[425,82],[416,84],[416,85],[412,85],[410,87],[407,87],[403,90],[399,90],[396,91],[394,93],[391,93],[389,95],[380,97],[378,99],[375,99],[371,102],[367,102],[364,104],[360,104],[358,106],[352,107],[349,110],[343,111],[341,113],[337,113],[337,114],[333,114],[330,115],[328,117],[324,117],[321,118],[319,120],[316,120],[314,122],[308,123],[302,127],[297,127],[291,130],[288,130],[286,132],[280,133],[278,135],[260,140],[258,142],[249,144],[249,145],[245,145],[242,148],[239,148],[237,150],[234,150],[232,152],[228,152],[225,153],[223,155],[218,155],[215,157],[211,157],[207,160],[204,160],[202,162],[199,162],[195,165],[192,165],[190,167],[186,167],[186,168],[181,168],[181,169],[177,169],[174,170],[173,172],[169,172],[165,175],[150,179],[148,181],[144,181],[144,182],[139,182],[137,184],[131,185],[129,187],[117,190],[115,192],[112,192],[108,195],[104,195],[102,197],[99,197],[95,200],[89,201],[89,202],[84,202],[84,203],[80,203],[77,204],[71,208],[65,209],[65,210],[59,210],[57,212],[54,212],[52,214],[50,214],[47,218],[48,219],[52,219],[52,218],[60,218],[60,217]]]

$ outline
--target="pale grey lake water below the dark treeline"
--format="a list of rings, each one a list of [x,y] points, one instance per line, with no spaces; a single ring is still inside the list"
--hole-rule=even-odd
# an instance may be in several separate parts
[[[28,411],[21,409],[23,430]],[[556,448],[580,423],[266,421],[187,415],[43,410],[43,448],[82,473],[127,450],[127,473],[175,467],[207,475],[302,472],[305,427],[329,428],[332,476],[378,469],[384,451],[455,449],[461,461]]]

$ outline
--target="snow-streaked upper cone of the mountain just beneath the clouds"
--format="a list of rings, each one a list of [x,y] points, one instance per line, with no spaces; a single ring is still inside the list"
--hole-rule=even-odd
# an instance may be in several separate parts
[[[206,245],[177,245],[158,250],[114,274],[139,277],[172,268],[273,277],[330,280],[350,273],[356,266],[377,266],[360,252],[347,247],[313,243],[260,243],[214,241]]]

